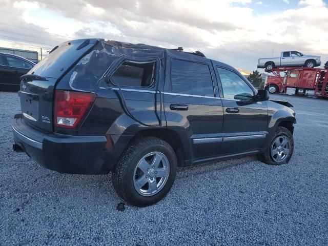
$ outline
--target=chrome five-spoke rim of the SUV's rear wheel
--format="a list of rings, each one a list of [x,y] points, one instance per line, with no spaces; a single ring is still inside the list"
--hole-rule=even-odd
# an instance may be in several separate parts
[[[134,170],[134,188],[142,196],[155,195],[165,186],[169,173],[170,163],[163,153],[148,153],[139,160]]]

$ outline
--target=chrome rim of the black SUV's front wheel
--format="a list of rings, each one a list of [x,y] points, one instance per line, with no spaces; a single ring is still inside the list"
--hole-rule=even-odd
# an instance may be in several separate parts
[[[290,152],[290,140],[286,136],[278,136],[271,145],[271,157],[275,162],[285,160]]]

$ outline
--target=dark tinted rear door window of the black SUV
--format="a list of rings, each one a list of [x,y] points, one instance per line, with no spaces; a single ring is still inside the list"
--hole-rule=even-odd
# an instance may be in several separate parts
[[[172,59],[172,92],[199,96],[214,96],[208,65]]]

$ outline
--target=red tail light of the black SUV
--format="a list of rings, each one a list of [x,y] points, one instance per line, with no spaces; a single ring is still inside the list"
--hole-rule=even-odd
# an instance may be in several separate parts
[[[76,129],[89,112],[96,96],[87,92],[56,91],[55,126]]]

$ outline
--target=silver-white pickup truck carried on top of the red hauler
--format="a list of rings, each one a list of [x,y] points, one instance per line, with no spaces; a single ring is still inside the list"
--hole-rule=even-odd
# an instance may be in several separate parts
[[[304,55],[298,51],[283,51],[280,57],[259,58],[257,68],[271,71],[275,67],[318,67],[321,65],[320,56]]]

